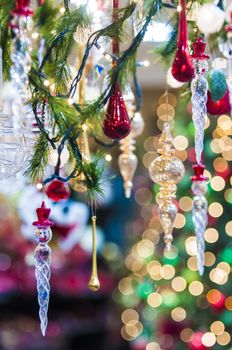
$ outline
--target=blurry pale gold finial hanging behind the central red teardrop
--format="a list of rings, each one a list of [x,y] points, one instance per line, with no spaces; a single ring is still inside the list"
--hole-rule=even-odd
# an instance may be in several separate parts
[[[124,99],[132,122],[130,134],[123,140],[120,140],[120,150],[122,153],[118,158],[118,166],[124,180],[125,197],[130,198],[133,187],[132,180],[138,166],[138,158],[134,154],[134,150],[136,148],[136,141],[134,138],[142,134],[144,129],[144,120],[139,112],[134,113],[134,95],[131,90],[129,90],[129,93],[124,96]]]

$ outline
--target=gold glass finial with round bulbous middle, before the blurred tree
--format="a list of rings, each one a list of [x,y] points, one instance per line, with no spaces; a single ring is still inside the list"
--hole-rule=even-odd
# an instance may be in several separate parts
[[[160,137],[161,156],[155,158],[149,166],[149,174],[152,181],[159,184],[160,190],[157,195],[159,217],[164,230],[164,242],[166,249],[171,249],[173,241],[173,227],[177,214],[177,207],[173,203],[176,198],[176,184],[184,176],[184,165],[173,156],[172,136],[170,125],[164,124],[163,133]]]

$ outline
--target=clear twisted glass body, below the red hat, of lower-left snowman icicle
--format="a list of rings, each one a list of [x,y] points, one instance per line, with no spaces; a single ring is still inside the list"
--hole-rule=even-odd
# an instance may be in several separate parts
[[[37,281],[38,303],[39,303],[39,318],[40,327],[43,336],[48,325],[48,304],[50,296],[50,264],[51,264],[51,249],[48,242],[52,238],[50,227],[37,228],[36,237],[39,242],[35,248],[35,277]]]

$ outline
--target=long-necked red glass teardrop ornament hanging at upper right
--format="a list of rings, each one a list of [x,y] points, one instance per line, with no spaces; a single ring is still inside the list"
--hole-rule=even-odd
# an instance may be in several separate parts
[[[194,77],[194,65],[188,48],[186,21],[186,1],[180,0],[179,32],[176,56],[172,64],[173,77],[182,83],[191,81]]]

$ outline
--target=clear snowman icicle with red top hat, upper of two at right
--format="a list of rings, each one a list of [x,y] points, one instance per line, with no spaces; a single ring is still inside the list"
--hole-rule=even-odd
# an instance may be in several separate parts
[[[201,162],[201,155],[204,147],[204,126],[207,113],[206,102],[208,83],[205,74],[208,70],[208,63],[206,60],[209,56],[205,54],[205,46],[206,43],[202,38],[197,38],[193,43],[192,54],[195,64],[195,77],[191,83],[192,115],[195,127],[195,153],[197,163]]]

